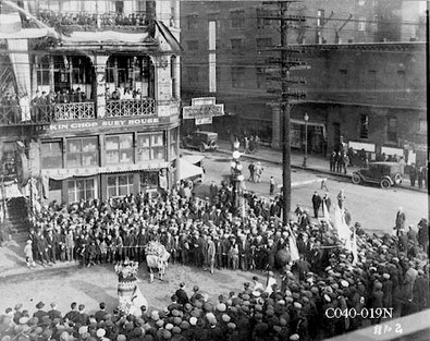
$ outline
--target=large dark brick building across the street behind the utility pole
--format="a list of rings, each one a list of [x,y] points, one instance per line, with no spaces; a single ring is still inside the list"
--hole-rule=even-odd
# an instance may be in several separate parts
[[[267,61],[280,56],[273,51],[280,45],[280,22],[271,19],[277,4],[211,1],[181,7],[183,101],[216,96],[229,115],[214,119],[213,130],[221,135],[258,133],[279,147],[279,96],[273,93],[280,83],[270,77],[277,73],[267,72],[273,70]],[[290,5],[293,19],[306,19],[288,28],[288,44],[299,51],[293,58],[311,66],[291,73],[307,80],[303,89],[308,93],[306,102],[292,107],[293,148],[304,146],[307,112],[311,153],[327,154],[343,139],[373,150],[373,156],[383,149],[425,162],[423,10],[406,11],[402,1],[385,0]]]

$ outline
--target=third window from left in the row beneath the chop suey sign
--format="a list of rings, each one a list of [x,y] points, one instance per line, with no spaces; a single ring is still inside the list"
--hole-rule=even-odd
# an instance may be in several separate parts
[[[106,137],[106,163],[133,162],[133,135],[123,134]]]

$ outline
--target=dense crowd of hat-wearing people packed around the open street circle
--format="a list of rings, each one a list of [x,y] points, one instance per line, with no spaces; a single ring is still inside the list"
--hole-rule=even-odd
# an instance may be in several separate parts
[[[394,233],[383,236],[367,234],[356,223],[358,259],[354,259],[351,251],[339,246],[333,230],[324,221],[311,219],[307,209],[297,207],[296,217],[282,223],[279,196],[267,203],[246,194],[248,214],[238,218],[232,214],[229,184],[212,188],[208,200],[187,195],[186,187],[187,183],[182,183],[159,198],[131,195],[106,203],[83,200],[70,207],[54,204],[34,221],[28,256],[44,265],[74,259],[87,267],[125,258],[144,263],[144,245],[156,240],[171,253],[171,263],[211,272],[217,268],[261,270],[267,279],[254,278],[238,293],[221,295],[218,301],[201,295],[188,302],[176,292],[168,309],[146,312],[138,318],[111,312],[109,318],[99,320],[95,316],[85,322],[47,317],[40,325],[27,316],[23,324],[21,318],[15,320],[15,326],[13,318],[5,316],[0,333],[63,341],[71,334],[78,340],[119,341],[140,337],[316,340],[382,320],[382,316],[368,321],[329,318],[329,308],[393,308],[395,314],[407,315],[429,307],[429,226],[425,218],[406,231],[406,215],[400,210]],[[341,199],[344,205],[345,197]],[[293,265],[287,260],[292,233],[299,254]],[[32,267],[33,260],[27,260]],[[273,277],[278,270],[280,282]]]

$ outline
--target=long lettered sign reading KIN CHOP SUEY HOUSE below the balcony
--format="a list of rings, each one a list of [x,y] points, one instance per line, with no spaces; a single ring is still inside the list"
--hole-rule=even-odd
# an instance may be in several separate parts
[[[122,126],[134,126],[142,124],[155,124],[160,123],[159,118],[136,118],[136,119],[118,119],[118,120],[102,120],[102,121],[81,121],[81,122],[64,122],[53,123],[50,125],[40,125],[36,130],[39,131],[74,131],[83,129],[96,129],[96,127],[122,127]]]

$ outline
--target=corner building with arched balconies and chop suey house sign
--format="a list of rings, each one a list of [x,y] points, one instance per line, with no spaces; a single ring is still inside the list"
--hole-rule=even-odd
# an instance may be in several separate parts
[[[3,94],[16,95],[19,105],[2,101],[2,163],[12,165],[23,193],[28,179],[35,198],[59,204],[171,187],[179,157],[179,2],[50,0],[28,1],[23,10],[38,28],[48,27],[37,38],[4,39],[15,47],[2,57],[3,74],[15,82]],[[2,15],[13,12],[2,5]],[[27,24],[7,34],[25,36]]]

